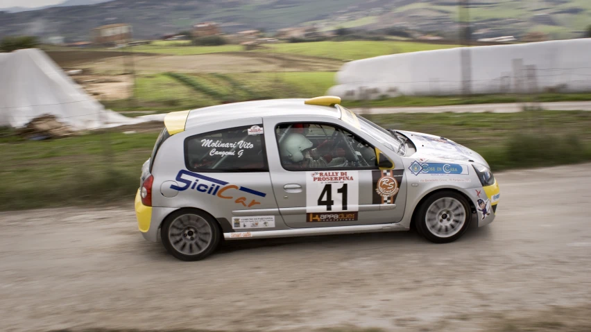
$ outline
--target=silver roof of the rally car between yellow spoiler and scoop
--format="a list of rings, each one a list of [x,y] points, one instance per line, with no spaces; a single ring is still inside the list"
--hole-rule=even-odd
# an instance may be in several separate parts
[[[306,99],[272,99],[266,101],[246,101],[198,108],[189,111],[185,130],[196,126],[232,120],[268,116],[329,116],[341,117],[341,110],[334,106],[307,105]]]

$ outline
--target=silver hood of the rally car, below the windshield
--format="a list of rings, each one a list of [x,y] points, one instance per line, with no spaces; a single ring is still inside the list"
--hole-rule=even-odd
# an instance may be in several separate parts
[[[414,155],[409,156],[411,158],[418,160],[431,159],[477,162],[490,168],[486,160],[484,160],[484,158],[477,152],[449,139],[431,134],[424,134],[422,132],[408,132],[405,130],[396,131],[404,134],[404,136],[408,137],[416,146],[417,152]]]

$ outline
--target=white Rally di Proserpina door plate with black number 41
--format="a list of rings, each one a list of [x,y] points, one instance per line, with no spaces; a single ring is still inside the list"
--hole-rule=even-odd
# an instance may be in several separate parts
[[[359,211],[357,171],[306,173],[308,213]]]

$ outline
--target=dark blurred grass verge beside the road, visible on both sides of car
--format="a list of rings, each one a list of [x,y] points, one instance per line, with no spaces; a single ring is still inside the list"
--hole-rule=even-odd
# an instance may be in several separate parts
[[[591,160],[590,112],[391,114],[385,128],[441,135],[480,152],[497,170]],[[0,209],[131,202],[157,132],[95,133],[49,141],[0,135]],[[548,136],[551,134],[551,136]],[[516,135],[522,135],[518,137]]]

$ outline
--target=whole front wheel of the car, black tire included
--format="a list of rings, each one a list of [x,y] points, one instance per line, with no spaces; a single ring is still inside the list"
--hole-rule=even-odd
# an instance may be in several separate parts
[[[429,216],[427,216],[428,212]],[[420,204],[415,216],[418,233],[433,243],[456,241],[470,227],[472,220],[468,201],[455,191],[438,191],[430,195]],[[444,216],[447,218],[443,218]],[[463,222],[456,223],[461,216],[464,217]]]

